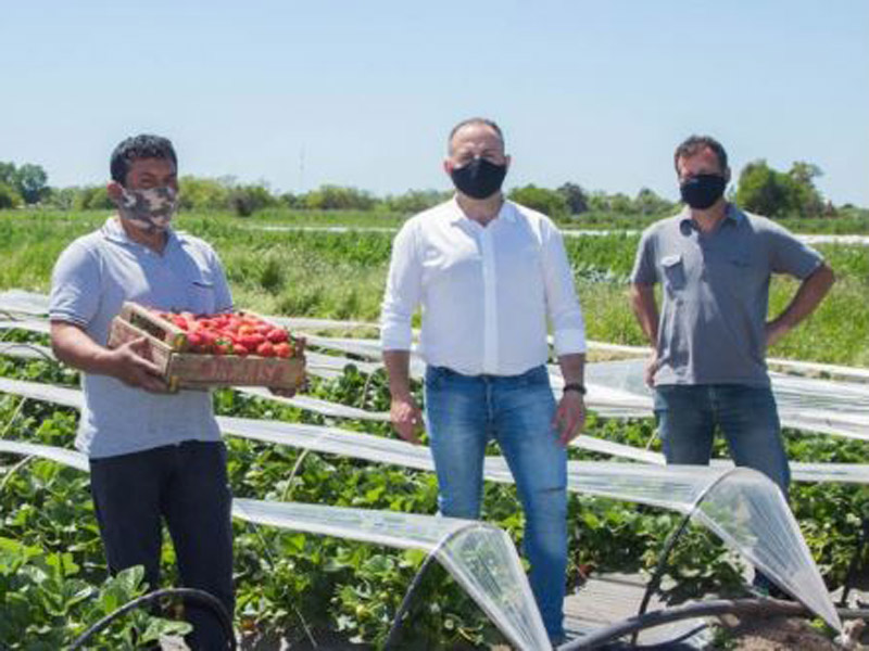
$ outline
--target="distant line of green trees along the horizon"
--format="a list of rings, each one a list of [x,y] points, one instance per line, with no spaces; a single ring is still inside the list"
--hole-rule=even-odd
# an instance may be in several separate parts
[[[815,186],[821,169],[811,163],[796,162],[788,171],[770,167],[766,161],[747,164],[739,175],[729,197],[743,208],[768,217],[835,216],[836,208]],[[298,210],[379,210],[413,214],[437,205],[451,191],[408,190],[403,194],[376,196],[347,186],[326,184],[304,193],[275,192],[268,183],[239,183],[232,177],[185,176],[179,180],[180,207],[185,210],[231,210],[245,217],[268,208]],[[509,199],[555,218],[582,215],[664,216],[678,209],[648,188],[637,195],[587,191],[572,182],[556,189],[534,184],[514,188]],[[40,205],[62,210],[111,209],[103,186],[52,188],[39,165],[0,162],[0,208]],[[853,206],[845,206],[853,207]]]

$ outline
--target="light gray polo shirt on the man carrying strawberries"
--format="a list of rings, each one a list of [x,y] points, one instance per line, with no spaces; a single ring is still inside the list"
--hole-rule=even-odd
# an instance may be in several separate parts
[[[232,307],[223,267],[209,244],[171,230],[159,254],[127,238],[112,217],[61,254],[51,281],[49,316],[80,326],[105,345],[112,318],[124,301],[192,312]],[[84,373],[83,384],[85,408],[76,447],[91,458],[219,439],[210,392],[151,394],[91,373]]]

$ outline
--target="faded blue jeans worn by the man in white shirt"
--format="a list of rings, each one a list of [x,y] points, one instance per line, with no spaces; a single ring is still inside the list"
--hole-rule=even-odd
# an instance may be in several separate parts
[[[469,376],[429,367],[425,391],[440,512],[479,518],[486,444],[498,441],[525,508],[524,548],[531,563],[531,589],[550,637],[562,637],[567,454],[552,426],[555,399],[546,369]]]

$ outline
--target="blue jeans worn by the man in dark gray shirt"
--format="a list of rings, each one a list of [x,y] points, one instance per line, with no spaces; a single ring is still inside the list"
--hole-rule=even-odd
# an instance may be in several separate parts
[[[776,398],[768,386],[656,386],[655,418],[667,463],[708,464],[717,424],[733,462],[763,472],[788,497],[791,471]]]

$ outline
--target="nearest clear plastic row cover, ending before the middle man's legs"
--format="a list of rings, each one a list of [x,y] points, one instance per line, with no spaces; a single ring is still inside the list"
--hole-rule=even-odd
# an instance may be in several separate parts
[[[87,457],[63,448],[0,438],[0,452],[40,457],[89,472]],[[470,520],[297,502],[234,499],[247,522],[433,553],[517,648],[550,647],[531,587],[506,533]]]

